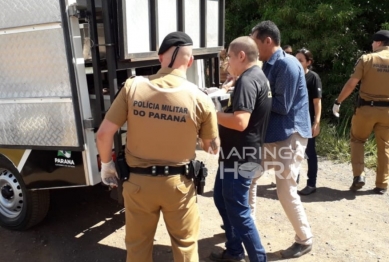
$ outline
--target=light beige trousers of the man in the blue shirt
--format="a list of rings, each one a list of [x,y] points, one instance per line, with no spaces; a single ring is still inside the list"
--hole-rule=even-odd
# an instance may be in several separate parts
[[[265,143],[263,152],[264,170],[274,169],[278,199],[296,232],[295,241],[302,245],[312,244],[312,231],[296,183],[307,142],[307,138],[294,133],[283,141]]]

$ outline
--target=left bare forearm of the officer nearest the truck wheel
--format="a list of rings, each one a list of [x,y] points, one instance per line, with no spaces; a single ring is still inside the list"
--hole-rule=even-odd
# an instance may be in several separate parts
[[[96,133],[96,145],[101,162],[108,163],[112,159],[113,136],[120,127],[104,119]]]

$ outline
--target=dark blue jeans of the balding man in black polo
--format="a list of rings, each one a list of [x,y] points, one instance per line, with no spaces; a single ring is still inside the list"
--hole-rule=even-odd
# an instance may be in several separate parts
[[[224,177],[221,177],[223,173]],[[250,262],[266,262],[266,252],[261,244],[258,230],[251,217],[248,203],[251,179],[245,178],[233,171],[217,171],[214,201],[226,232],[227,253],[237,257],[244,257],[242,242],[247,250]]]

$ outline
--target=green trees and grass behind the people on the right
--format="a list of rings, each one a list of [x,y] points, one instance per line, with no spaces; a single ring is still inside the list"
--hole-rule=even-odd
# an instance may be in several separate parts
[[[313,70],[323,83],[319,137],[322,154],[349,159],[350,121],[356,92],[342,103],[340,119],[332,105],[353,71],[357,59],[371,52],[371,36],[389,30],[389,1],[382,0],[228,0],[226,44],[248,35],[257,23],[272,20],[281,31],[282,44],[294,51],[305,47],[314,56]],[[368,166],[375,165],[375,143],[366,143]],[[373,161],[374,160],[374,161]]]

